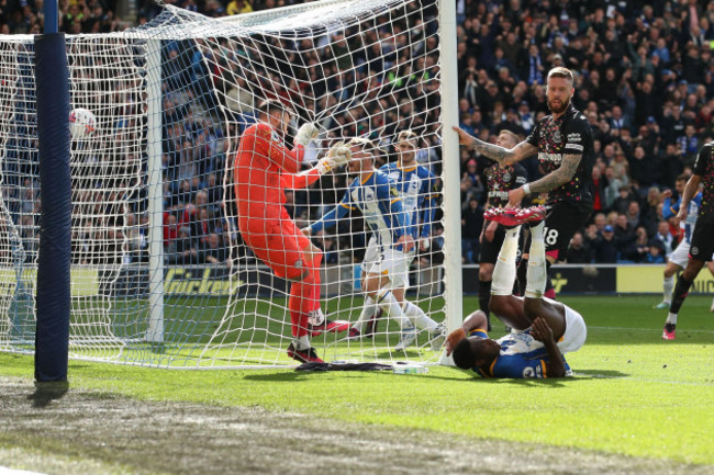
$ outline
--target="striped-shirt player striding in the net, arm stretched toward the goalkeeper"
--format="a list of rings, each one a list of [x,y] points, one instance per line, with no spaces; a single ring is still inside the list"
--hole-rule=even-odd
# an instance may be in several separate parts
[[[439,349],[444,341],[443,327],[416,305],[410,304],[408,308],[413,307],[415,312],[405,314],[392,293],[392,290],[402,289],[409,282],[409,263],[415,244],[414,228],[402,199],[394,182],[375,169],[375,144],[366,138],[354,138],[348,145],[352,155],[348,167],[349,172],[356,176],[355,180],[342,202],[303,231],[315,235],[336,226],[348,210],[359,210],[372,231],[378,250],[362,278],[365,294],[377,302],[384,314],[395,319],[401,329],[411,325],[427,329],[432,348]],[[353,331],[350,336],[355,338],[358,333]]]

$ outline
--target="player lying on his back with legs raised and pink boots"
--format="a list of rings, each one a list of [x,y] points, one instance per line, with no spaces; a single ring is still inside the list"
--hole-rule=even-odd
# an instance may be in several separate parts
[[[562,377],[570,374],[564,353],[579,350],[588,333],[582,316],[567,305],[543,296],[546,265],[543,228],[545,210],[492,208],[484,215],[506,230],[493,270],[491,312],[512,328],[492,340],[486,314],[476,310],[446,340],[446,354],[464,370],[484,377]],[[521,224],[531,225],[531,260],[525,297],[512,295]]]

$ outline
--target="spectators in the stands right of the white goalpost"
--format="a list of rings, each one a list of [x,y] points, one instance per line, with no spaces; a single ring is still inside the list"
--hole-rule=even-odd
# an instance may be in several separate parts
[[[573,105],[595,138],[594,212],[576,263],[663,262],[682,235],[669,210],[714,138],[714,4],[705,1],[457,2],[460,125],[494,142],[548,114],[554,66],[576,75]],[[461,154],[465,239],[478,239],[488,162]],[[529,181],[535,160],[524,163]],[[673,196],[671,196],[673,193]],[[674,213],[676,214],[676,213]],[[472,256],[465,256],[475,262]]]

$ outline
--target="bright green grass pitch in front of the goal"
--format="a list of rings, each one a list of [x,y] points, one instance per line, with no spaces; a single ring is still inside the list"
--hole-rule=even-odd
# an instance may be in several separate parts
[[[489,381],[451,367],[424,375],[290,370],[164,371],[70,362],[70,383],[137,399],[186,400],[338,420],[714,464],[714,315],[690,296],[678,340],[662,341],[655,297],[567,297],[589,326],[568,355],[574,378]],[[465,308],[477,301],[466,298]],[[497,326],[498,328],[499,326]],[[0,374],[32,376],[0,354]]]

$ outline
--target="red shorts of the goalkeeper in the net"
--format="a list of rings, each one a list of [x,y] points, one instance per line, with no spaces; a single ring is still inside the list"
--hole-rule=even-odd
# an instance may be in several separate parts
[[[303,251],[310,239],[292,219],[249,219],[238,229],[255,256],[279,278],[300,281],[310,269]]]

